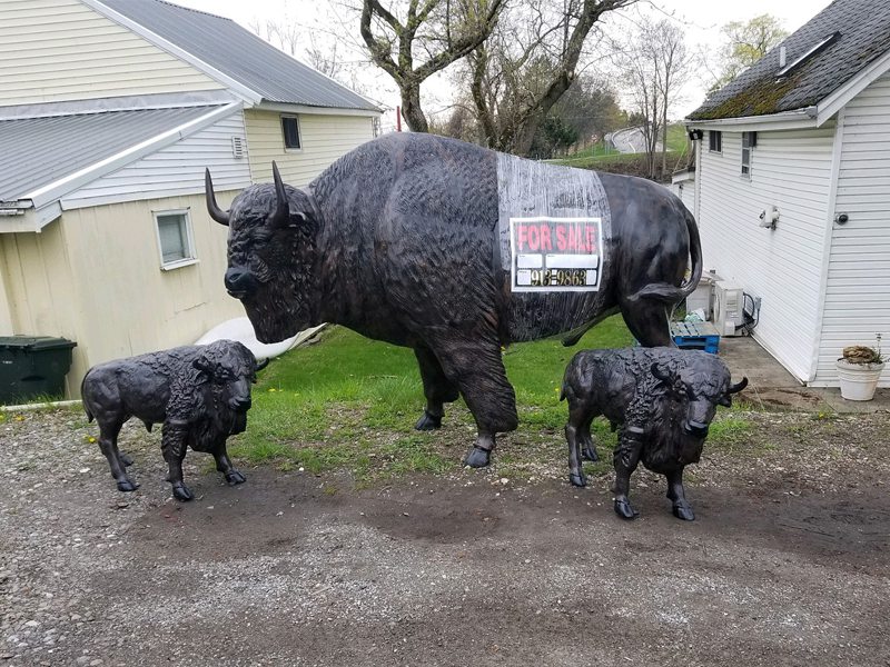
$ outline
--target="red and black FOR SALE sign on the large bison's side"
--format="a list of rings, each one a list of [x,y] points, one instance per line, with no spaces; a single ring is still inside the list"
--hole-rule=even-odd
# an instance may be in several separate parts
[[[601,218],[511,218],[513,291],[596,291],[602,272]]]

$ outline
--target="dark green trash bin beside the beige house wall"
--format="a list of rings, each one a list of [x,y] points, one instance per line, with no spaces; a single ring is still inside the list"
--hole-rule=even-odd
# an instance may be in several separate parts
[[[75,346],[49,336],[0,336],[0,404],[63,397]]]

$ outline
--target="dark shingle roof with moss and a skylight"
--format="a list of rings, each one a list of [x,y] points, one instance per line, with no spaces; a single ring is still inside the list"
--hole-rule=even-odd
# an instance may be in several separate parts
[[[793,64],[782,77],[780,47]],[[890,50],[890,0],[834,0],[733,81],[712,93],[688,120],[768,116],[818,104]]]

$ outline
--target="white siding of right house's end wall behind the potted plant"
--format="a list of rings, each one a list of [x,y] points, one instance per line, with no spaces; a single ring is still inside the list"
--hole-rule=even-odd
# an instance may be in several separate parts
[[[834,362],[848,345],[890,351],[890,73],[844,109],[843,142],[814,385],[838,386]],[[880,385],[890,387],[890,372]]]

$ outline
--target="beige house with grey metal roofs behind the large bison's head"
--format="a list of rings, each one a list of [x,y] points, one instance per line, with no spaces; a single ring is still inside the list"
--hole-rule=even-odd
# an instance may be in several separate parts
[[[160,0],[0,3],[0,336],[77,341],[67,378],[244,315],[208,217],[305,186],[376,133],[372,102],[233,21]]]

